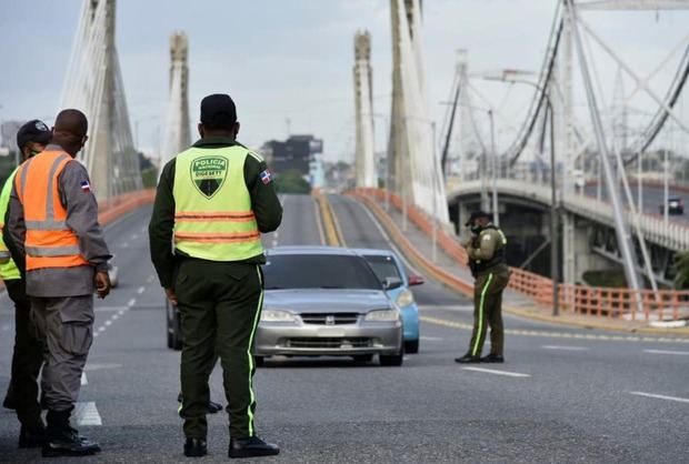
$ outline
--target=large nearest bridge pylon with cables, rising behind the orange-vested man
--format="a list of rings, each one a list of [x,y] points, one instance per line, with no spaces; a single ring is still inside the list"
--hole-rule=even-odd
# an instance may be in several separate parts
[[[116,0],[84,0],[62,87],[61,109],[89,119],[79,158],[99,200],[142,188],[114,44]]]

